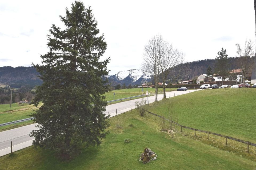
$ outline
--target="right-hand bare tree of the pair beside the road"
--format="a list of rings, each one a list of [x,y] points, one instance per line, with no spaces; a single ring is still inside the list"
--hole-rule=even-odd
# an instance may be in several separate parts
[[[165,55],[162,55],[160,64],[160,71],[163,80],[163,98],[166,98],[165,94],[165,81],[170,73],[170,69],[174,66],[181,64],[184,60],[184,54],[173,47],[172,44],[166,43]]]

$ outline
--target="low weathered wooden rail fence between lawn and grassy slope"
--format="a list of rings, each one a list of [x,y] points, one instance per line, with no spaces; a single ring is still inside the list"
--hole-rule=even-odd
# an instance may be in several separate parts
[[[170,121],[170,120],[166,119],[166,118],[163,117],[163,116],[159,116],[159,115],[157,115],[157,114],[155,114],[155,113],[151,113],[151,112],[149,112],[149,111],[147,111],[147,110],[145,110],[145,111],[148,112],[149,114],[154,115],[154,116],[155,116],[155,120],[157,120],[157,117],[160,117],[160,118],[162,118],[162,119],[165,119],[165,120],[167,120],[167,121]],[[205,130],[190,128],[190,127],[187,127],[187,126],[180,125],[180,124],[178,124],[178,123],[176,123],[176,122],[174,122],[174,121],[171,121],[171,123],[174,123],[174,124],[176,124],[177,126],[180,126],[180,127],[181,127],[181,132],[182,132],[182,128],[186,128],[186,129],[194,130],[195,132],[196,132],[196,131],[199,131],[199,132],[207,133],[207,134],[208,134],[208,140],[209,140],[210,134],[216,135],[216,136],[220,136],[220,137],[223,137],[223,138],[226,138],[226,145],[227,145],[227,139],[231,139],[231,140],[233,140],[233,141],[245,143],[245,144],[247,144],[247,152],[248,152],[248,153],[249,153],[249,145],[251,145],[251,146],[256,146],[255,143],[251,143],[251,142],[249,142],[249,141],[244,141],[244,140],[241,140],[241,139],[237,139],[237,138],[233,138],[233,137],[230,137],[230,136],[221,135],[221,134],[214,133],[214,132],[210,132],[210,131],[205,131]],[[196,135],[196,133],[195,133],[195,135]]]

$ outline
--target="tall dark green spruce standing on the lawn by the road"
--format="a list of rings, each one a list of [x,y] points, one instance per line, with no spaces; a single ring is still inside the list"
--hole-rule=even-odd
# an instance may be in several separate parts
[[[109,127],[105,94],[109,87],[102,77],[108,75],[109,58],[99,62],[107,43],[98,36],[97,21],[83,3],[72,3],[71,11],[60,16],[66,28],[54,24],[49,30],[49,52],[41,55],[42,65],[34,65],[43,84],[36,88],[35,106],[43,105],[32,116],[38,123],[33,130],[34,145],[54,150],[70,159],[80,146],[99,145]]]

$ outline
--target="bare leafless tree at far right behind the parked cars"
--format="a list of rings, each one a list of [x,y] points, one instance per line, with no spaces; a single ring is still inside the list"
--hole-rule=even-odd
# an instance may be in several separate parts
[[[243,87],[245,87],[245,76],[254,66],[254,62],[251,62],[251,58],[254,57],[254,45],[251,43],[251,40],[246,39],[244,48],[242,48],[240,44],[236,44],[236,46],[237,54],[241,61]]]

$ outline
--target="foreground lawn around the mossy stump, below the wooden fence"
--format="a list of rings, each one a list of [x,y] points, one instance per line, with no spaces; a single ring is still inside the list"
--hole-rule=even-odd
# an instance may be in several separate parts
[[[0,169],[255,169],[246,153],[234,154],[176,132],[161,132],[158,120],[137,109],[110,118],[110,134],[99,147],[89,147],[70,162],[60,162],[49,150],[29,147],[0,158]],[[117,128],[117,124],[122,128]],[[125,139],[131,143],[125,143]],[[149,147],[157,160],[143,164],[139,155]]]

